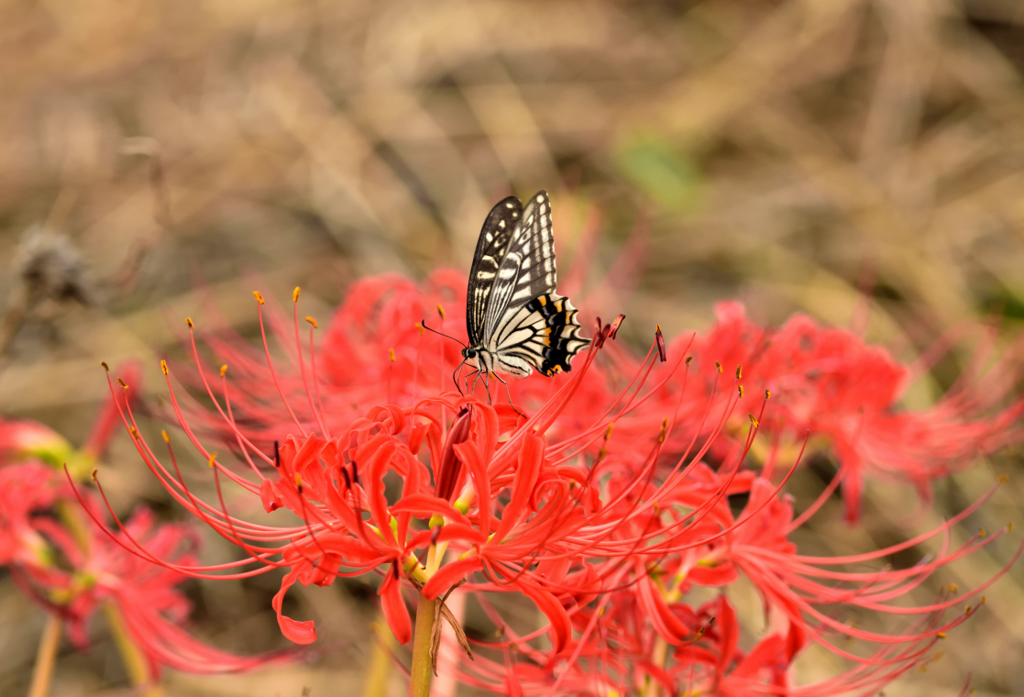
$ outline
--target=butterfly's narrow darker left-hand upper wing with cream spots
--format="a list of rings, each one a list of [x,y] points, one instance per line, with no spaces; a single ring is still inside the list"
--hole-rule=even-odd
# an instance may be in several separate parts
[[[483,328],[492,306],[492,291],[521,218],[522,204],[515,197],[509,197],[490,209],[483,221],[466,291],[466,331],[470,346],[479,345],[486,336]]]

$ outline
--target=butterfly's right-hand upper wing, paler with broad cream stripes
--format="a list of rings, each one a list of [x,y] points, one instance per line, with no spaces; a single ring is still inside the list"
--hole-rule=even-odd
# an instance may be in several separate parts
[[[508,201],[506,199],[502,204]],[[487,216],[488,221],[494,210],[490,214]],[[477,243],[477,250],[481,243]],[[547,191],[538,191],[526,203],[504,257],[499,262],[498,274],[484,312],[483,333],[479,337],[482,342],[490,344],[490,339],[500,334],[529,301],[554,293],[556,278],[551,203]],[[472,288],[472,279],[470,287]],[[474,343],[471,335],[470,345]]]

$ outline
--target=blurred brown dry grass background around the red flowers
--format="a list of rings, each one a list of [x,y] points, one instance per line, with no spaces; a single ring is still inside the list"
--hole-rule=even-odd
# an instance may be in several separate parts
[[[0,49],[0,411],[73,440],[104,394],[97,362],[139,357],[162,391],[155,361],[207,294],[243,332],[257,284],[282,299],[302,286],[326,319],[352,278],[467,268],[510,188],[552,191],[563,269],[588,224],[595,278],[640,250],[637,288],[605,310],[635,339],[654,321],[703,326],[730,297],[760,320],[846,325],[863,291],[866,336],[906,359],[978,318],[1005,345],[1024,317],[1019,0],[8,0]],[[941,394],[970,349],[908,403]],[[125,440],[104,466],[118,505],[180,515]],[[939,512],[913,524],[1018,468],[1005,453],[940,483]],[[1019,523],[1022,494],[1012,478],[972,525]],[[863,529],[826,510],[809,534],[837,552],[891,541],[916,498],[868,495]],[[978,583],[1012,547],[935,587]],[[1024,694],[1022,582],[1014,570],[944,657],[886,694],[954,695],[971,670],[976,694]],[[190,584],[194,628],[238,651],[283,646],[275,583]],[[309,664],[169,673],[169,692],[355,690],[372,594],[295,592],[324,637]],[[42,623],[0,577],[0,693],[24,694]],[[54,694],[125,684],[97,626],[90,654],[62,655]]]

